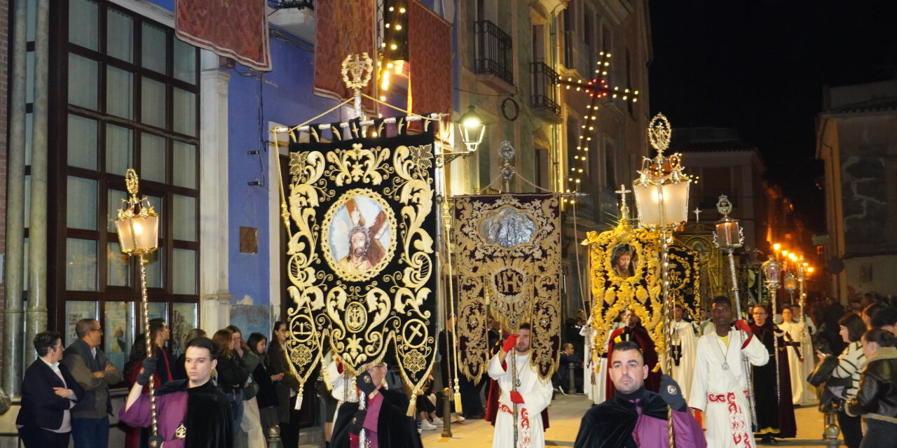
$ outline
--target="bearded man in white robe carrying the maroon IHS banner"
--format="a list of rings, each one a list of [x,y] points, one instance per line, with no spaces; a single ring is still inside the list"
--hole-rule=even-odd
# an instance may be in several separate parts
[[[504,341],[499,351],[489,361],[489,376],[501,387],[499,409],[495,416],[495,433],[492,448],[514,447],[514,407],[517,406],[517,435],[520,448],[544,448],[545,435],[542,426],[542,410],[552,401],[550,378],[539,378],[539,374],[529,365],[530,328],[521,323],[516,334]],[[514,350],[514,365],[508,353]],[[515,375],[516,372],[516,375]],[[516,376],[517,390],[512,390]]]

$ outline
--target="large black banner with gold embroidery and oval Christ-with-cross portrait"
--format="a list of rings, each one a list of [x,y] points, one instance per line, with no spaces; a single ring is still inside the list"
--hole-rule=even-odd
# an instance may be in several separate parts
[[[351,375],[387,362],[419,390],[436,344],[433,134],[332,128],[333,142],[290,144],[287,353],[300,383],[332,349]]]

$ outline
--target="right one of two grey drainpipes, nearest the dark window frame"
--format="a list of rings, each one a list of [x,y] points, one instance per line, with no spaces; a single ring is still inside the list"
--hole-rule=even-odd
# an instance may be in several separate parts
[[[47,330],[47,117],[49,0],[38,0],[34,30],[34,135],[31,137],[31,210],[28,228],[28,310],[25,341]],[[25,364],[37,358],[31,352]]]

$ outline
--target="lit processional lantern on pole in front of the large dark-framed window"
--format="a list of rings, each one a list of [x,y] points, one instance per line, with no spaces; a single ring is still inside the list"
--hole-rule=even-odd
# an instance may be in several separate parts
[[[125,185],[127,193],[131,197],[122,200],[115,226],[118,230],[118,244],[121,246],[121,251],[128,255],[137,255],[137,259],[140,260],[140,297],[144,307],[146,357],[149,358],[152,357],[152,339],[150,338],[150,304],[146,294],[146,255],[152,254],[159,248],[159,215],[156,214],[149,200],[137,196],[138,182],[137,172],[133,168],[127,168]],[[152,435],[154,436],[158,434],[158,430],[152,378],[147,385],[150,388],[150,415],[152,416]]]

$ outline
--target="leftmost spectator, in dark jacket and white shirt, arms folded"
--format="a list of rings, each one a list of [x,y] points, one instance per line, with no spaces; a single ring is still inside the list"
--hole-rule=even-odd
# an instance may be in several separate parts
[[[22,409],[15,418],[25,448],[68,448],[72,433],[72,409],[83,399],[84,390],[63,357],[59,332],[39,332],[34,336],[36,359],[22,378]]]

